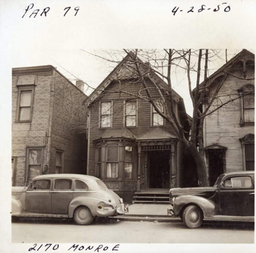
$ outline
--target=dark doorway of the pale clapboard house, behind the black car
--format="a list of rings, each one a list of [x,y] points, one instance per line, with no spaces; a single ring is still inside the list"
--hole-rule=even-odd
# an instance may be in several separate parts
[[[218,176],[224,173],[222,149],[208,149],[209,155],[209,181],[213,186]]]

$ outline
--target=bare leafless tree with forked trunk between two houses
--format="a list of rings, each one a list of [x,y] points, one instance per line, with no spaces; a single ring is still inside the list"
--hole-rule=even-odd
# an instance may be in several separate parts
[[[124,52],[127,56],[119,60],[119,56],[123,56]],[[223,57],[224,63],[227,57],[227,52],[225,53]],[[212,71],[209,70],[209,64],[220,60],[220,52],[211,51],[210,54],[208,49],[123,49],[122,51],[114,52],[90,52],[90,54],[108,63],[117,64],[121,62],[122,66],[127,69],[127,73],[130,73],[133,77],[130,82],[139,85],[139,89],[133,93],[122,85],[117,90],[108,90],[102,87],[98,89],[99,96],[104,96],[107,93],[125,93],[131,96],[131,98],[150,102],[155,111],[169,122],[175,130],[178,140],[183,143],[186,151],[194,158],[198,170],[199,186],[209,186],[209,178],[203,156],[204,119],[206,116],[210,116],[211,113],[239,99],[239,96],[233,96],[233,93],[235,94],[236,92],[233,92],[232,88],[228,98],[223,99],[218,95],[218,91],[224,80],[227,75],[232,75],[233,69],[229,69],[230,71],[228,72],[223,71],[222,75],[214,81],[209,79],[209,72]],[[236,67],[239,66],[232,65],[232,68]],[[152,75],[153,73],[154,75]],[[155,74],[159,77],[158,79],[153,78]],[[189,135],[184,130],[184,126],[180,122],[180,115],[177,115],[177,111],[175,110],[174,99],[177,98],[177,93],[172,87],[174,76],[177,79],[185,75],[193,106]],[[195,77],[192,77],[193,75]],[[243,78],[251,80],[254,79],[254,76],[247,77],[244,75]],[[151,81],[150,84],[147,81],[148,79]],[[116,76],[116,80],[121,84],[121,78],[119,80],[118,75]],[[182,82],[185,82],[184,79]],[[129,85],[129,82],[127,85]],[[214,87],[214,92],[209,93],[212,87]],[[156,92],[158,94],[157,98],[155,96]],[[224,102],[216,103],[216,101]]]

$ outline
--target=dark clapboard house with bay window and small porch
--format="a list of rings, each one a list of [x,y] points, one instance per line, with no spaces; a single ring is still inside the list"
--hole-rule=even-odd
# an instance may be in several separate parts
[[[128,60],[127,55],[85,102],[89,108],[87,174],[101,178],[125,201],[135,192],[168,192],[183,186],[184,180],[183,147],[152,105],[132,95],[145,93]],[[163,83],[154,73],[151,79]],[[175,110],[189,133],[183,99],[175,91],[173,95]],[[159,98],[157,90],[154,96]]]

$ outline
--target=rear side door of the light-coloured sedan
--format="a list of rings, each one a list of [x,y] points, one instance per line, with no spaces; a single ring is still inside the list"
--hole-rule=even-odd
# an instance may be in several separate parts
[[[67,214],[68,205],[73,199],[73,180],[58,178],[54,180],[52,189],[52,213]]]

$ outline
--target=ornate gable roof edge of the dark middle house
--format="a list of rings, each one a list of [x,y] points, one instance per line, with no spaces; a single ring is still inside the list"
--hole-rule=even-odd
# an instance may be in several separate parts
[[[134,55],[133,52],[129,52],[129,54]],[[123,58],[122,61],[120,61],[120,63],[111,71],[111,73],[101,82],[101,84],[99,84],[99,86],[95,90],[93,90],[93,92],[84,102],[86,106],[89,106],[97,97],[99,97],[99,95],[108,87],[109,84],[111,84],[112,81],[138,77],[136,74],[129,71],[129,69],[131,70],[131,67],[128,66],[128,63],[129,61],[130,63],[133,62],[130,55],[127,54],[125,58]],[[141,61],[139,58],[138,61],[142,64],[142,67],[146,66],[146,68],[148,69],[147,63],[143,63],[143,61]],[[167,84],[163,82],[163,79],[160,78],[160,76],[158,76],[154,71],[150,72],[150,78],[158,84],[163,84],[167,86]],[[175,90],[172,90],[172,92],[176,102],[183,102],[182,97],[177,92],[175,92]]]

